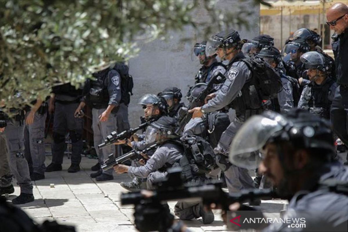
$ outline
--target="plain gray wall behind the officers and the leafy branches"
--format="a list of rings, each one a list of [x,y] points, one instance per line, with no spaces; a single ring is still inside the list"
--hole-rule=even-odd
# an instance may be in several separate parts
[[[235,11],[238,5],[252,6],[253,0],[217,1],[216,7]],[[237,13],[237,12],[236,12]],[[207,19],[207,12],[200,6],[193,14],[196,22]],[[251,29],[239,31],[242,38],[252,38],[259,34],[260,7],[254,7],[254,14],[247,18]],[[216,31],[218,33],[219,31]],[[215,33],[215,32],[214,32]],[[176,86],[186,95],[189,86],[193,85],[194,77],[200,64],[193,54],[196,42],[205,38],[198,38],[197,31],[192,27],[185,28],[182,32],[170,33],[167,41],[155,40],[149,43],[139,42],[141,52],[139,56],[129,61],[130,74],[134,79],[134,95],[129,105],[129,121],[132,127],[139,124],[139,117],[143,110],[138,103],[139,98],[147,93],[157,94],[167,87]],[[191,38],[182,41],[183,38]],[[185,99],[186,100],[186,99]]]

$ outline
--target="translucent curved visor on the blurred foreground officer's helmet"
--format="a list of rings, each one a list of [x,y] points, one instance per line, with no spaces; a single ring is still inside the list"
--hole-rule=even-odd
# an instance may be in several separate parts
[[[243,168],[255,169],[261,158],[258,150],[266,144],[271,136],[283,129],[279,124],[282,117],[269,119],[254,115],[238,130],[230,148],[230,162]]]

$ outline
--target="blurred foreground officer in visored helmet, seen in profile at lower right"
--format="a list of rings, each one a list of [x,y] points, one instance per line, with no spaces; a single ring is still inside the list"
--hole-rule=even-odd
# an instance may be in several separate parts
[[[261,156],[250,155],[259,149]],[[333,161],[333,153],[330,122],[293,109],[284,115],[267,111],[246,121],[232,142],[230,160],[244,168],[259,166],[277,193],[289,199],[283,218],[304,218],[305,228],[296,231],[347,231],[348,167]],[[235,203],[230,209],[245,207]],[[264,231],[294,231],[287,222],[273,223]]]

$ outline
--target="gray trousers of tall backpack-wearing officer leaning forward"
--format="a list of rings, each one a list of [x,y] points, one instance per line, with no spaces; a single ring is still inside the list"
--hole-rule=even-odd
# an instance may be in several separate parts
[[[228,157],[232,140],[236,136],[239,128],[243,125],[244,121],[244,117],[235,117],[232,120],[226,131],[222,133],[219,144],[214,149],[215,152]],[[219,163],[217,165],[219,165]],[[255,188],[253,179],[245,168],[240,168],[232,164],[226,171],[224,171],[224,174],[229,192],[238,192],[242,189]]]

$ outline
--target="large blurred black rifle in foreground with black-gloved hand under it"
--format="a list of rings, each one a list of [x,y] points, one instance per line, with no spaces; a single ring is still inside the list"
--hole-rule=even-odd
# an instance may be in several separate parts
[[[221,188],[221,182],[203,185],[185,185],[181,179],[181,168],[168,169],[168,175],[156,183],[157,190],[146,192],[129,192],[121,194],[121,205],[135,205],[135,226],[142,232],[168,231],[174,216],[170,214],[163,201],[202,200],[210,207],[212,203],[229,210],[232,203],[251,202],[255,199],[272,199],[276,194],[270,189],[242,190],[227,193]],[[149,223],[151,222],[151,223]]]

